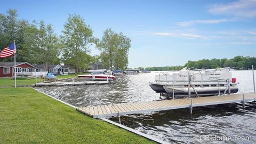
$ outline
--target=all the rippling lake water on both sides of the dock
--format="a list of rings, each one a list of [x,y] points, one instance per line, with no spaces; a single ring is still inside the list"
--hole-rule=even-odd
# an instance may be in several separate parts
[[[150,74],[117,76],[107,85],[44,86],[36,89],[77,107],[114,103],[146,102],[166,99],[149,87],[159,71]],[[253,92],[252,71],[233,71],[239,82],[238,93]],[[256,73],[254,72],[256,76]],[[255,79],[256,81],[256,79]],[[116,117],[110,117],[118,122]],[[256,103],[195,107],[193,115],[187,108],[134,114],[121,117],[121,123],[170,143],[256,143]],[[198,140],[222,138],[222,140]],[[208,135],[208,136],[207,136]],[[246,140],[238,140],[247,138]],[[226,140],[230,137],[230,140]],[[250,139],[251,138],[251,139]],[[226,140],[226,141],[223,141]]]

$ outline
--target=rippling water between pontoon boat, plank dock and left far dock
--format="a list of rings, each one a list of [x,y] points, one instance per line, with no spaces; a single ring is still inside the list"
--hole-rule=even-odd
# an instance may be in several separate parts
[[[107,85],[44,86],[37,89],[77,107],[146,102],[159,100],[159,94],[148,85],[154,79],[154,74],[123,75]]]

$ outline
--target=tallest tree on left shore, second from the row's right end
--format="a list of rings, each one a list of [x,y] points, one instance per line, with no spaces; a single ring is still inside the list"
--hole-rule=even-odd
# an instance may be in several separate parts
[[[78,68],[87,68],[89,61],[85,55],[88,55],[89,46],[95,42],[91,27],[79,15],[69,15],[62,34],[63,62],[73,66],[76,73]]]

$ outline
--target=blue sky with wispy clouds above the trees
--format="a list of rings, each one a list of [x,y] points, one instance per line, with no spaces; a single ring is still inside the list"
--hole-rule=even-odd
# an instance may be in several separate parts
[[[188,60],[256,57],[256,0],[12,1],[19,19],[51,23],[61,35],[79,14],[95,37],[111,28],[131,38],[129,68],[185,65]],[[99,54],[91,47],[91,54]]]

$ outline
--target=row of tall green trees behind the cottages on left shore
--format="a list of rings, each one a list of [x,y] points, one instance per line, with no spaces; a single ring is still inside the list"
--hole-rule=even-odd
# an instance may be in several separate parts
[[[14,40],[17,61],[43,64],[45,70],[51,64],[65,63],[76,72],[93,62],[101,62],[106,69],[126,69],[131,47],[129,37],[110,28],[103,31],[101,39],[94,37],[90,25],[78,14],[69,14],[61,35],[57,35],[51,24],[18,19],[17,10],[9,9],[0,14],[0,50]],[[90,55],[93,45],[99,55]],[[13,57],[1,61],[13,62]]]

